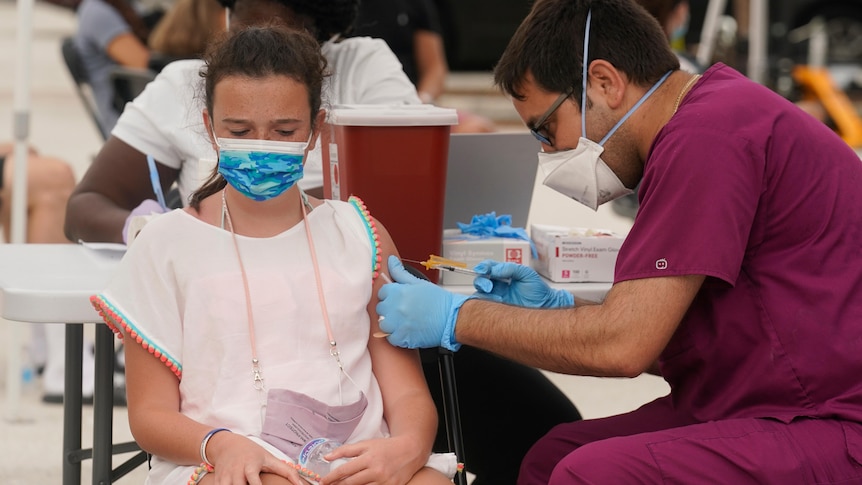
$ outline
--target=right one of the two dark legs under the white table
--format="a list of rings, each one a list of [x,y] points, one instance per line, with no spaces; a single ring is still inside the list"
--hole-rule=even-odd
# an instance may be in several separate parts
[[[80,390],[80,385],[78,386]],[[93,484],[111,483],[114,426],[114,335],[96,325],[96,382],[93,393]]]

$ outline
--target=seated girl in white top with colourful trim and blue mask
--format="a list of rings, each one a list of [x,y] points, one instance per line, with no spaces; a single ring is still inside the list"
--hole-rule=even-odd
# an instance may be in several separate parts
[[[325,69],[317,41],[284,26],[213,44],[203,119],[217,169],[93,297],[128,347],[147,483],[451,483],[454,455],[431,454],[418,352],[372,337],[375,254],[397,254],[391,237],[362,201],[296,185],[323,125]],[[319,439],[343,443],[327,471],[303,461]]]

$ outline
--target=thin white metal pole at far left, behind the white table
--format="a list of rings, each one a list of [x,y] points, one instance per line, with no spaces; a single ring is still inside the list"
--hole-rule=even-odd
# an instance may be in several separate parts
[[[15,139],[15,174],[12,181],[11,241],[24,243],[27,239],[27,157],[30,138],[30,48],[33,32],[35,0],[18,0],[15,62],[15,92],[12,104],[12,130]],[[20,418],[21,400],[21,347],[24,327],[9,325],[6,362],[6,415]]]

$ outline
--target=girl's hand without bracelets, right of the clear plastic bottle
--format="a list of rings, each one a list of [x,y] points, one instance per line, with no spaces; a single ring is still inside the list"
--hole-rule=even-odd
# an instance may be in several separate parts
[[[428,461],[422,447],[400,436],[343,445],[326,455],[329,461],[351,458],[320,480],[320,485],[404,485]]]

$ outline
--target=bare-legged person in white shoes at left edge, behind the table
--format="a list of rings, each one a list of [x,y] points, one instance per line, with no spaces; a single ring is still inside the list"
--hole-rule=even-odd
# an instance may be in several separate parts
[[[0,226],[3,238],[11,241],[12,184],[15,157],[12,143],[0,143]],[[63,219],[66,202],[75,188],[75,174],[65,160],[42,155],[30,148],[27,159],[27,233],[25,242],[31,244],[65,244]],[[29,359],[42,374],[42,401],[49,404],[63,402],[65,386],[64,355],[66,329],[62,324],[32,325]],[[85,401],[92,402],[94,368],[92,348],[84,352],[81,393]]]

